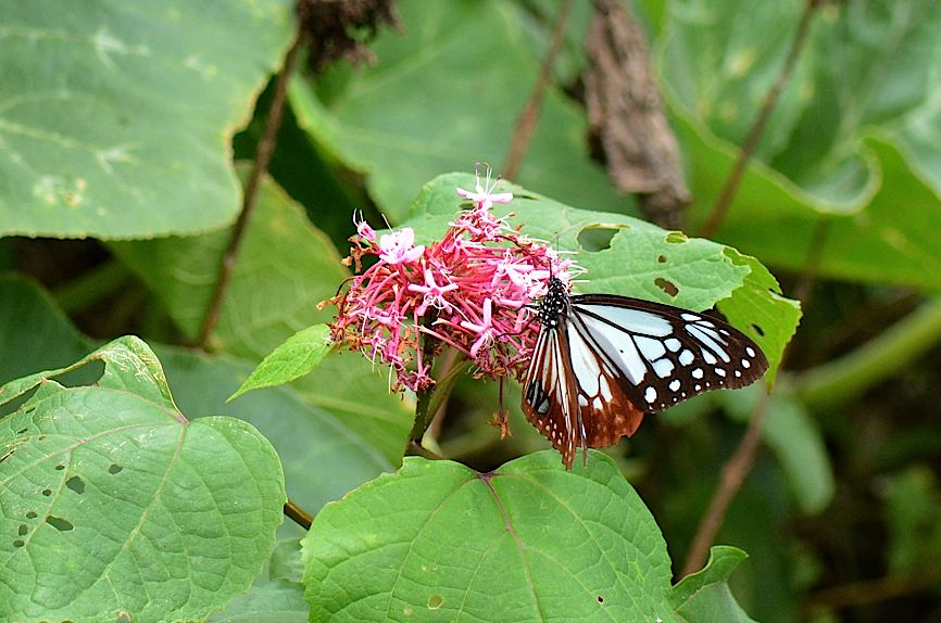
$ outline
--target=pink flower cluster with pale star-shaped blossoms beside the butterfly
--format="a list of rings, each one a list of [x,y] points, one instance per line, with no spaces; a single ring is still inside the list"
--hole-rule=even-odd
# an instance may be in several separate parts
[[[469,357],[478,377],[526,372],[539,331],[530,304],[545,294],[551,275],[568,282],[572,264],[493,216],[494,203],[513,199],[494,186],[488,170],[474,191],[459,188],[473,208],[427,246],[416,245],[407,227],[377,240],[365,221],[356,224],[349,262],[359,275],[331,300],[339,309],[333,339],[390,366],[393,390],[430,387],[429,354],[443,345]]]

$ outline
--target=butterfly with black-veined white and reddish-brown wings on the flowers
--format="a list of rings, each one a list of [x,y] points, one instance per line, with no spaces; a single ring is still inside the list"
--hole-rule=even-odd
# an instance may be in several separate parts
[[[523,383],[523,411],[572,469],[577,448],[631,436],[643,416],[707,390],[744,387],[764,353],[722,320],[613,294],[569,295],[557,277]]]

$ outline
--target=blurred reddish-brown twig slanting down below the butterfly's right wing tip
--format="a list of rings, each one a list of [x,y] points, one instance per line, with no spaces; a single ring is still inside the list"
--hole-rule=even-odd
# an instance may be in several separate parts
[[[725,521],[729,505],[736,498],[736,495],[738,495],[745,476],[749,475],[755,462],[755,456],[762,441],[762,424],[765,421],[765,414],[768,410],[769,404],[770,394],[765,393],[754,414],[752,414],[749,428],[739,443],[739,447],[736,448],[736,453],[723,468],[718,488],[703,514],[699,529],[697,529],[686,563],[682,565],[682,571],[679,574],[680,577],[695,573],[705,563],[710,547],[712,547],[716,534],[718,534]]]

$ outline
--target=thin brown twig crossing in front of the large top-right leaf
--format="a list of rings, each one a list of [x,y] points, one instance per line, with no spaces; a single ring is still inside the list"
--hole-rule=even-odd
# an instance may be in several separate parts
[[[758,116],[755,119],[755,123],[752,125],[752,129],[749,131],[749,136],[745,139],[745,144],[739,152],[739,157],[738,160],[736,160],[732,171],[731,174],[729,174],[729,177],[726,180],[725,186],[723,187],[723,191],[719,194],[719,198],[713,204],[710,217],[706,220],[705,225],[703,225],[702,229],[700,229],[699,236],[703,238],[708,238],[710,236],[715,233],[716,229],[718,229],[719,225],[722,225],[723,220],[725,219],[729,206],[731,205],[731,202],[739,190],[739,185],[741,183],[742,176],[744,176],[745,173],[745,166],[749,164],[752,154],[758,147],[758,141],[761,140],[762,132],[765,129],[765,124],[771,116],[771,111],[775,109],[775,105],[778,102],[778,98],[785,90],[785,86],[788,84],[788,80],[791,77],[791,72],[794,68],[794,65],[798,62],[798,58],[801,54],[801,50],[804,47],[804,42],[807,39],[807,33],[811,29],[811,17],[814,14],[814,9],[816,9],[819,3],[820,0],[805,0],[804,12],[801,14],[801,21],[798,24],[798,31],[794,33],[794,39],[791,41],[791,49],[788,51],[788,56],[787,59],[785,59],[783,66],[781,66],[781,73],[778,74],[777,80],[775,80],[775,84],[771,85],[771,88],[765,96],[765,101],[764,103],[762,103],[761,111],[758,111]]]

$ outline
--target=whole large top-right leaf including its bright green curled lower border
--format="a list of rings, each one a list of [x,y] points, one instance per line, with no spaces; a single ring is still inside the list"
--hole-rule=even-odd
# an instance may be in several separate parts
[[[694,223],[719,195],[805,2],[669,5],[661,74],[689,153]],[[737,15],[727,20],[727,15]],[[766,20],[785,27],[763,26]],[[802,60],[716,233],[769,265],[938,291],[941,5],[816,9]],[[770,34],[770,35],[769,35]],[[717,138],[720,137],[720,138]]]

